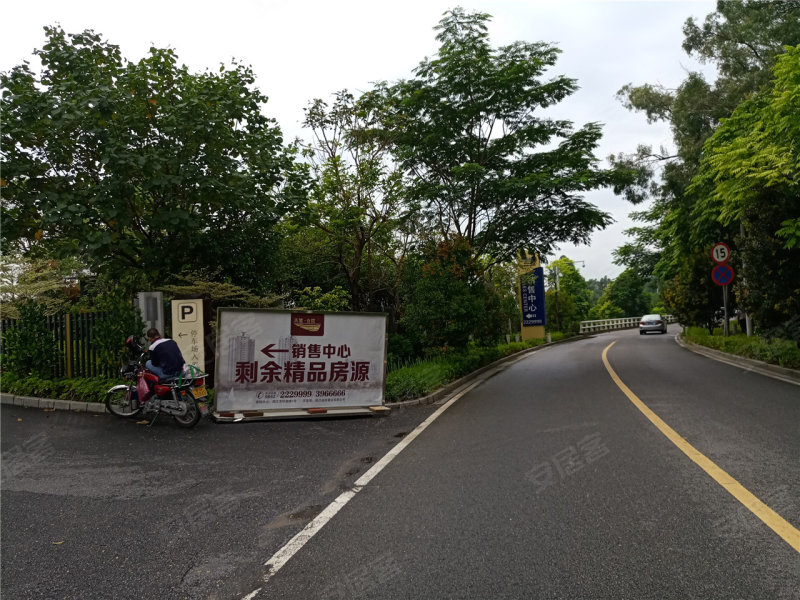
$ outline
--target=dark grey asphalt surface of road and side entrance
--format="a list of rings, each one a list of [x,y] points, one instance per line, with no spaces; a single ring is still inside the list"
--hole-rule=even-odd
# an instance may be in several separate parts
[[[642,402],[800,528],[800,387],[616,332],[471,390],[266,582],[436,407],[190,432],[3,407],[3,596],[800,598],[798,550],[623,394],[612,342]]]

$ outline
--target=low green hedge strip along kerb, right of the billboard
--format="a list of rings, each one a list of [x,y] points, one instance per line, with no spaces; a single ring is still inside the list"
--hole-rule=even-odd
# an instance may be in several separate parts
[[[551,334],[553,341],[568,337],[562,333]],[[541,346],[545,340],[512,342],[493,347],[470,346],[462,351],[447,351],[428,360],[394,366],[386,375],[386,402],[400,402],[427,396],[434,390],[468,375],[499,358],[522,350]]]

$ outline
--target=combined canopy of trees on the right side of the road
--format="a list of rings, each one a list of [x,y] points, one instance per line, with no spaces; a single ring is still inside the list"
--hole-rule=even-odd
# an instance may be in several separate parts
[[[700,273],[712,266],[706,260],[710,246],[725,241],[734,250],[732,265],[744,276],[737,278],[736,300],[759,313],[760,325],[769,328],[779,314],[786,318],[796,310],[785,304],[797,296],[791,284],[791,289],[776,287],[764,275],[798,280],[781,246],[793,247],[800,239],[797,58],[791,48],[787,53],[787,47],[800,44],[800,4],[718,2],[703,23],[688,19],[684,36],[688,53],[716,66],[713,82],[689,73],[677,90],[656,85],[620,90],[628,108],[670,123],[676,148],[669,154],[642,147],[621,157],[620,164],[639,168],[640,191],[652,203],[633,214],[643,225],[628,232],[634,240],[616,251],[615,262],[641,275],[655,273],[675,288],[667,292],[673,307],[700,319],[713,313],[717,302]],[[656,174],[660,180],[642,183]],[[690,296],[710,305],[697,306]],[[783,308],[759,312],[758,302]]]

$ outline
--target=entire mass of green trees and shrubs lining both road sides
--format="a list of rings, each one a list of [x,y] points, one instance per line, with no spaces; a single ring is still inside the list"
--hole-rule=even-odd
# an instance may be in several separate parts
[[[310,99],[288,144],[239,63],[192,72],[172,49],[128,60],[99,33],[45,28],[38,60],[0,74],[3,391],[93,396],[92,381],[60,382],[45,320],[98,315],[76,343],[111,376],[141,331],[135,292],[162,291],[214,314],[386,313],[387,397],[410,398],[516,347],[502,342],[521,330],[520,256],[545,263],[556,339],[650,312],[713,327],[715,242],[732,248],[731,310],[800,342],[798,5],[721,2],[687,21],[684,48],[718,79],[623,87],[676,150],[608,165],[598,124],[543,115],[579,84],[557,74],[560,49],[493,46],[490,21],[446,12],[408,79]],[[600,189],[642,206],[641,226],[619,276],[586,280],[557,248],[612,222],[585,200]]]

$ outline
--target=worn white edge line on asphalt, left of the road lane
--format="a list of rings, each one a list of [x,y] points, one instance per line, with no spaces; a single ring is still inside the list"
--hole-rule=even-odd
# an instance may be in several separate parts
[[[469,387],[465,388],[455,396],[453,396],[447,403],[443,404],[435,413],[425,419],[422,423],[420,423],[414,431],[409,433],[406,437],[404,437],[394,448],[389,450],[386,455],[376,462],[372,468],[364,473],[354,484],[353,489],[343,492],[336,498],[333,502],[331,502],[325,510],[319,513],[314,519],[306,525],[297,535],[295,535],[291,540],[289,540],[286,545],[278,550],[272,558],[270,558],[267,562],[264,563],[265,567],[269,567],[269,571],[266,575],[264,575],[264,583],[267,583],[278,571],[280,571],[281,567],[289,562],[289,559],[292,558],[297,552],[306,545],[306,543],[314,537],[320,529],[322,529],[328,521],[330,521],[336,513],[338,513],[344,506],[353,499],[353,497],[360,492],[364,487],[372,481],[372,479],[386,466],[392,462],[398,454],[400,454],[411,442],[413,442],[419,434],[421,434],[425,429],[427,429],[428,425],[433,423],[439,416],[446,411],[452,404],[454,404],[459,398],[464,396],[467,392],[470,392],[473,388],[477,387],[481,383],[485,381],[485,378],[481,378],[475,383],[471,384]],[[242,600],[253,600],[259,592],[261,592],[263,588],[258,588],[257,590],[250,592],[246,596],[242,598]]]

